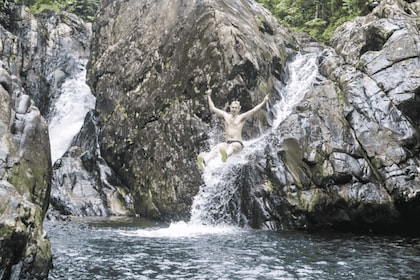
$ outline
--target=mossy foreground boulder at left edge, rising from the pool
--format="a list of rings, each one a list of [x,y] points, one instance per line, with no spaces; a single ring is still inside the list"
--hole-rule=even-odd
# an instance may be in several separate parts
[[[47,279],[48,127],[32,99],[0,69],[0,278]]]

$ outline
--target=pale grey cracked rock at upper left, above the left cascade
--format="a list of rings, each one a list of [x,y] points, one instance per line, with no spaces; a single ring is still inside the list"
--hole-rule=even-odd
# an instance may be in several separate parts
[[[64,77],[84,69],[90,25],[66,12],[49,10],[34,16],[28,7],[11,1],[0,12],[5,24],[0,29],[0,59],[48,117]]]

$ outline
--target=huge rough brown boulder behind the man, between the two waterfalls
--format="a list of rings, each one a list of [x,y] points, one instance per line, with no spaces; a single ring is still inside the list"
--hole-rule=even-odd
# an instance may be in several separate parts
[[[102,157],[136,213],[188,218],[209,137],[205,90],[219,107],[235,98],[250,109],[282,79],[294,38],[254,1],[231,0],[103,1],[93,34]]]

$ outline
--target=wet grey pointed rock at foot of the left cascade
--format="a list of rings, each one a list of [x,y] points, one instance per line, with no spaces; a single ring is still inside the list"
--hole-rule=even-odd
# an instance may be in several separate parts
[[[98,151],[97,114],[86,116],[81,133],[53,166],[52,210],[62,215],[134,215],[128,189],[107,166]]]

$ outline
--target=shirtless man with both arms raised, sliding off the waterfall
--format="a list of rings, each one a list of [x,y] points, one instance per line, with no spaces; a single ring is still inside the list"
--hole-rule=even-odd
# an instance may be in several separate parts
[[[206,93],[210,110],[217,116],[223,118],[226,141],[217,144],[207,155],[198,155],[197,162],[200,169],[204,169],[204,166],[219,153],[222,156],[222,161],[226,162],[229,156],[240,152],[244,147],[242,143],[242,128],[244,127],[245,121],[253,116],[268,101],[268,95],[266,95],[263,102],[242,114],[239,114],[241,111],[239,101],[232,101],[229,106],[230,113],[228,113],[214,106],[213,100],[211,99],[211,89],[207,90]]]

